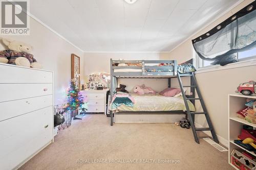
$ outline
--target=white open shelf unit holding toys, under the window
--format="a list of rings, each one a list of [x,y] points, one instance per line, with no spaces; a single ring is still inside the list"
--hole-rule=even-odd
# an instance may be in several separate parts
[[[237,112],[244,109],[246,99],[256,99],[256,95],[243,95],[243,94],[228,94],[228,163],[238,169],[236,166],[231,164],[231,152],[233,149],[246,149],[240,147],[238,144],[234,143],[234,139],[238,139],[238,135],[240,135],[243,125],[249,125],[253,128],[256,128],[256,124],[251,124],[247,122],[245,119],[239,118],[237,116]],[[256,156],[253,152],[247,151],[248,153]]]

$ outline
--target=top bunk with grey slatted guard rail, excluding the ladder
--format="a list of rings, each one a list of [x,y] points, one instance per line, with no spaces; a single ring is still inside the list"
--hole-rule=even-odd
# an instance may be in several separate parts
[[[117,78],[170,78],[177,76],[176,60],[110,60]]]

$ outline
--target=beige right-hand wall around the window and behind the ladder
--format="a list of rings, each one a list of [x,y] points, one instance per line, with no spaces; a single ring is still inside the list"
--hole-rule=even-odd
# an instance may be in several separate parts
[[[177,59],[178,62],[184,62],[192,58],[193,47],[191,44],[191,39],[194,39],[211,30],[220,22],[224,21],[226,18],[236,13],[251,2],[253,1],[244,1],[236,8],[232,9],[224,16],[216,20],[214,23],[209,25],[207,28],[200,31],[200,33],[186,40],[175,50],[170,52],[170,59]],[[256,66],[248,66],[196,74],[196,78],[201,89],[206,107],[209,111],[210,118],[217,134],[220,136],[220,139],[228,139],[227,96],[229,93],[234,93],[239,83],[247,82],[249,80],[256,80],[255,69]],[[201,109],[198,104],[196,104],[196,107],[198,110]],[[206,125],[205,119],[202,116],[197,116],[195,121],[201,126]]]

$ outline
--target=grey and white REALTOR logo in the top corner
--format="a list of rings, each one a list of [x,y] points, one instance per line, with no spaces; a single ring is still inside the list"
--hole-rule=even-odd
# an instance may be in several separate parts
[[[1,2],[1,34],[29,35],[28,1]]]

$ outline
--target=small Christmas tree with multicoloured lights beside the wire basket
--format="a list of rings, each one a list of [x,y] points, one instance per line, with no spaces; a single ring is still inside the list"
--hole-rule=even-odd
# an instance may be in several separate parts
[[[79,89],[75,86],[75,83],[71,81],[69,90],[68,90],[68,101],[65,106],[65,110],[70,110],[71,113],[81,108],[83,103],[82,95],[78,93]],[[74,117],[75,118],[75,117]]]

